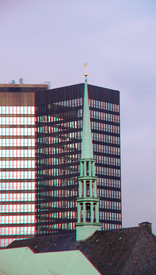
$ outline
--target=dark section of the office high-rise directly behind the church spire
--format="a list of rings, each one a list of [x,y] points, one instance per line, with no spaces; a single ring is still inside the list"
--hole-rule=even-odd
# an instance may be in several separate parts
[[[101,229],[121,228],[119,91],[88,85]],[[35,94],[36,235],[75,232],[84,84]]]

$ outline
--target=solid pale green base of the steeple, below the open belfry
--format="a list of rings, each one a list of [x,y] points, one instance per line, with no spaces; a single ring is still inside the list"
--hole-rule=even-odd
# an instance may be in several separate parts
[[[85,240],[96,230],[100,230],[101,222],[76,222],[76,241]]]

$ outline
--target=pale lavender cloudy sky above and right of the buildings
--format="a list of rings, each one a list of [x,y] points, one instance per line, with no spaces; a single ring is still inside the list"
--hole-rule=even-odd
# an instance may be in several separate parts
[[[0,0],[0,83],[120,90],[122,227],[156,234],[156,1]]]

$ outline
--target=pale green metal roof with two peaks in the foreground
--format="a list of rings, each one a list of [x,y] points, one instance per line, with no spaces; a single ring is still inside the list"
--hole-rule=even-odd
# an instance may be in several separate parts
[[[0,275],[99,275],[80,250],[35,253],[29,247],[0,250]]]

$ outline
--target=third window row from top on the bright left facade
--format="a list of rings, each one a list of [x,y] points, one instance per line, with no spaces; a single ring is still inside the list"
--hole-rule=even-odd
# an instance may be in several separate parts
[[[35,128],[0,128],[0,136],[35,136]]]

